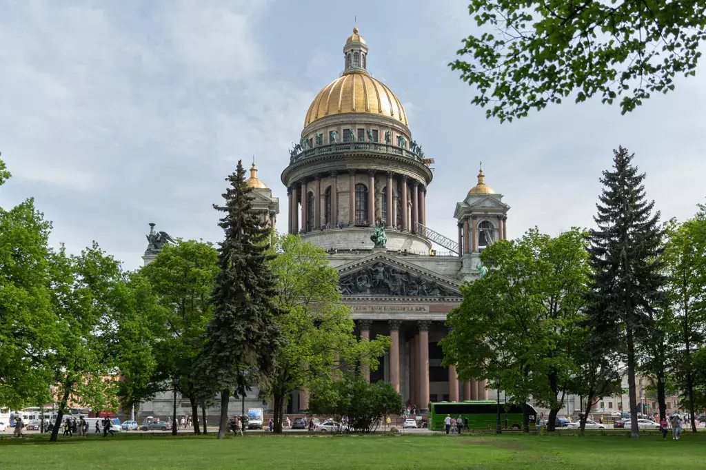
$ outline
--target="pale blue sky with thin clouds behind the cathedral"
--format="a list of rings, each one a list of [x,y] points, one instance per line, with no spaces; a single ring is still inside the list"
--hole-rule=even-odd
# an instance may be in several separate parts
[[[0,151],[13,174],[0,206],[34,197],[54,246],[97,241],[133,269],[149,222],[220,241],[212,205],[255,155],[286,231],[280,174],[311,100],[341,71],[354,18],[369,71],[436,160],[427,225],[451,239],[480,161],[513,238],[592,227],[618,145],[664,219],[706,202],[705,64],[626,116],[566,101],[501,124],[448,67],[474,30],[467,0],[0,0]]]

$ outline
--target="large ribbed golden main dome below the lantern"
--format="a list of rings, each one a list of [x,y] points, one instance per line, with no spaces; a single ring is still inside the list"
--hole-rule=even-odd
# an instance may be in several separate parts
[[[407,126],[407,113],[400,99],[384,83],[363,71],[345,73],[318,92],[306,112],[304,127],[325,116],[345,113],[388,116]]]

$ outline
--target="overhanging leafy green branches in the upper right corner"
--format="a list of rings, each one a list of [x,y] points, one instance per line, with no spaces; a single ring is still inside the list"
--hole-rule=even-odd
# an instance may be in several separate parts
[[[677,75],[695,75],[706,38],[700,0],[472,0],[468,9],[480,32],[457,54],[471,61],[450,66],[501,122],[573,94],[622,97],[621,112],[633,111],[674,90]]]

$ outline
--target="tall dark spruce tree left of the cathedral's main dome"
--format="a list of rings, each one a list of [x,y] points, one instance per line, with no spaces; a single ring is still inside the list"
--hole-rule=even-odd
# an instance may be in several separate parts
[[[277,284],[267,263],[270,230],[252,207],[241,161],[226,181],[225,205],[213,205],[225,213],[219,223],[225,239],[218,247],[213,318],[198,358],[198,375],[221,394],[219,439],[227,433],[230,395],[244,396],[253,376],[266,378],[283,342],[273,303]]]

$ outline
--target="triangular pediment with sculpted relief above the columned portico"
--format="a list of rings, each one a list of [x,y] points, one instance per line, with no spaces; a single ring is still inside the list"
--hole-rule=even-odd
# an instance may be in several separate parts
[[[373,253],[338,268],[341,294],[349,296],[460,299],[461,283],[419,266],[402,256]]]

